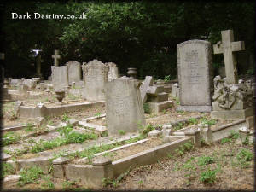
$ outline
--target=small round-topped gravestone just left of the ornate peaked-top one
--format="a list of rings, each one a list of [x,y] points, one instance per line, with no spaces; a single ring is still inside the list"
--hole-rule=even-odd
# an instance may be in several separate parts
[[[68,83],[79,82],[81,80],[81,64],[78,61],[68,61],[66,66],[68,71]]]

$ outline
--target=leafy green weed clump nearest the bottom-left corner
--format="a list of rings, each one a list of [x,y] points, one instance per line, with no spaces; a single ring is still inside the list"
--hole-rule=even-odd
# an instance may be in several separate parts
[[[32,166],[31,168],[22,168],[20,175],[18,185],[24,186],[28,183],[39,183],[38,179],[43,176],[43,171],[38,166]]]

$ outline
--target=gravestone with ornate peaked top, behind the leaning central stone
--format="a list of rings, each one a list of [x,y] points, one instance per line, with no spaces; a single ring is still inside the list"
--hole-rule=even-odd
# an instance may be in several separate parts
[[[101,61],[88,62],[84,68],[82,97],[88,101],[105,100],[105,84],[108,82],[108,66]]]

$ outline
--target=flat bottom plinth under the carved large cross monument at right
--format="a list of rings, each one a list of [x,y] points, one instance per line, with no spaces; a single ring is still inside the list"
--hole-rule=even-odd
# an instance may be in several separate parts
[[[225,110],[225,111],[212,111],[212,119],[224,119],[224,120],[239,120],[246,119],[249,116],[253,116],[254,108],[247,108],[242,110]]]

